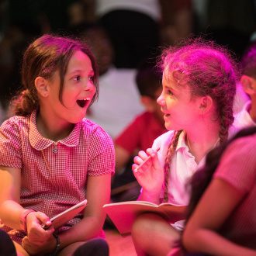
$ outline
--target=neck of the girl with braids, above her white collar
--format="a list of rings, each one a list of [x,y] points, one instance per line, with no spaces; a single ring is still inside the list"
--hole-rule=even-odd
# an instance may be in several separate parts
[[[194,129],[186,130],[186,144],[195,157],[196,163],[212,150],[219,142],[220,124],[211,122],[208,125],[196,124]]]

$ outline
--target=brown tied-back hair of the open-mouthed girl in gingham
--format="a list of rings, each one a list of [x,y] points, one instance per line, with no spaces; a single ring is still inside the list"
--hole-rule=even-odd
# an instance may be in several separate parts
[[[92,68],[95,72],[93,82],[96,88],[92,100],[94,102],[99,95],[99,74],[92,51],[79,40],[46,34],[33,41],[23,55],[21,72],[23,89],[12,99],[11,111],[18,116],[28,116],[33,110],[39,109],[34,81],[38,76],[49,79],[55,71],[59,71],[61,78],[59,99],[62,102],[64,75],[67,72],[67,65],[71,56],[77,50],[81,50],[92,62]]]

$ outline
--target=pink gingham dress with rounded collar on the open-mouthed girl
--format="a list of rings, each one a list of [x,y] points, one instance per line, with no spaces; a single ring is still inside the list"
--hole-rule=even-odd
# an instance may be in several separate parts
[[[86,199],[87,176],[113,174],[112,139],[88,119],[75,124],[68,137],[57,143],[36,129],[36,111],[30,117],[13,116],[0,128],[0,165],[19,168],[22,174],[20,204],[52,217]],[[81,220],[69,221],[57,232]],[[26,234],[0,224],[12,240]]]

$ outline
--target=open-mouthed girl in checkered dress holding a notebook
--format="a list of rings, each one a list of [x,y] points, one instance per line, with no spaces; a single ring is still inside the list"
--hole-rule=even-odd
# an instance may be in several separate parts
[[[114,171],[111,138],[85,118],[99,91],[95,58],[78,40],[41,36],[24,54],[22,85],[0,128],[0,227],[19,254],[73,254],[104,237]],[[85,199],[54,230],[50,217]]]

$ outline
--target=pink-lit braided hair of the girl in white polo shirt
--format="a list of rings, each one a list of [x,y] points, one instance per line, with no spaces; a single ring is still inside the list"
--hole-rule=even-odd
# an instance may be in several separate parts
[[[223,144],[234,122],[233,103],[238,78],[237,64],[228,51],[212,41],[187,40],[165,49],[158,66],[166,71],[166,76],[171,75],[178,85],[189,85],[192,97],[209,95],[213,99],[220,122],[220,144]],[[165,158],[164,202],[168,201],[171,159],[181,133],[182,130],[174,133]]]

